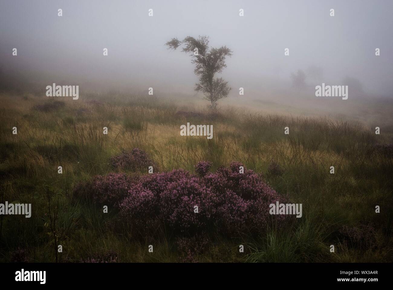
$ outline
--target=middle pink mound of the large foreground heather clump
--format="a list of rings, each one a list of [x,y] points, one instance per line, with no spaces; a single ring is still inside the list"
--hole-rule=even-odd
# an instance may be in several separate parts
[[[199,179],[185,170],[149,174],[129,191],[121,203],[121,213],[130,217],[140,230],[140,225],[161,220],[173,231],[195,233],[202,227],[204,214],[194,213],[200,206],[204,188]]]

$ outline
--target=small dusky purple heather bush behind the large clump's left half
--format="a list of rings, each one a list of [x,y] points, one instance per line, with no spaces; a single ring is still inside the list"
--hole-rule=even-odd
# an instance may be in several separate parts
[[[139,148],[134,148],[131,151],[122,151],[119,155],[112,156],[110,163],[115,168],[128,169],[132,171],[147,171],[149,166],[157,168],[147,153]]]

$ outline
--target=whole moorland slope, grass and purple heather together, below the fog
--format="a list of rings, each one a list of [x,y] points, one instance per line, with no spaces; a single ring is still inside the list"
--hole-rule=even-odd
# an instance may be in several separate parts
[[[1,261],[393,260],[391,114],[213,114],[116,92],[47,109],[36,106],[54,100],[0,98],[0,201],[32,204],[31,218],[0,216]],[[180,136],[187,122],[213,125],[213,139]],[[303,216],[268,214],[275,201],[302,203]]]

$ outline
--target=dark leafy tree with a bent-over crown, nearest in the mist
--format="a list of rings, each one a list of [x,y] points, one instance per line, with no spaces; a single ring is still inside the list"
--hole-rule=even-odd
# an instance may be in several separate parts
[[[199,36],[198,39],[187,36],[182,41],[173,38],[165,45],[168,49],[175,50],[182,44],[183,52],[190,53],[193,57],[191,63],[195,64],[194,73],[199,76],[199,83],[195,84],[195,91],[202,91],[204,99],[211,102],[212,109],[217,109],[217,101],[226,98],[231,90],[228,81],[222,78],[214,78],[216,73],[226,68],[225,58],[232,55],[232,51],[226,46],[220,48],[209,48],[209,37]]]

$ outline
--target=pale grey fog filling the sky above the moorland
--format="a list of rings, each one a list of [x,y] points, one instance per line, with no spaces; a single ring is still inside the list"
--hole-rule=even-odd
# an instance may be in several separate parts
[[[291,74],[298,70],[307,75],[310,89],[303,94],[314,96],[322,82],[348,85],[343,80],[349,78],[361,84],[366,97],[391,97],[392,10],[390,0],[1,0],[0,67],[2,78],[15,74],[21,84],[138,94],[153,87],[154,94],[190,96],[198,81],[191,57],[164,44],[173,37],[208,35],[212,47],[233,51],[220,74],[232,87],[232,98],[240,87],[250,99],[290,90]]]

